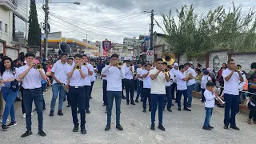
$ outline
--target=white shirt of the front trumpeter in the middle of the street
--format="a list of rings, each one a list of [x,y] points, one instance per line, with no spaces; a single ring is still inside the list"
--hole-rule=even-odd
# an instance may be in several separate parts
[[[122,78],[125,77],[123,70],[116,66],[106,66],[102,73],[107,75],[107,91],[122,91]]]

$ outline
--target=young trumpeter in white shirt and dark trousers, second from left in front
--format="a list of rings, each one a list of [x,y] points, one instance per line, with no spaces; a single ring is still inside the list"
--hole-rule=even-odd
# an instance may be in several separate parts
[[[80,69],[76,69],[77,66],[80,66]],[[85,94],[85,83],[84,79],[88,75],[88,69],[82,66],[82,54],[74,55],[74,66],[70,66],[68,70],[67,77],[70,78],[70,104],[72,110],[72,118],[74,123],[73,132],[78,132],[78,114],[77,106],[80,110],[81,118],[81,133],[86,134],[86,94]]]

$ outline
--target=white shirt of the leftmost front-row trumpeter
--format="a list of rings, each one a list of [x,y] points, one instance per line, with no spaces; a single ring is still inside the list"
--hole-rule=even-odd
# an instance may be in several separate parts
[[[18,74],[22,74],[24,71],[29,69],[29,66],[25,65],[18,68]],[[42,72],[45,73],[45,70],[42,69]],[[41,84],[41,74],[38,70],[31,68],[26,76],[22,79],[22,87],[24,89],[36,89],[42,87]]]

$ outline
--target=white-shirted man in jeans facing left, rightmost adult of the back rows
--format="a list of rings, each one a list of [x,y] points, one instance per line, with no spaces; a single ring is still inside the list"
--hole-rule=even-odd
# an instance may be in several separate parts
[[[195,77],[197,76],[196,72],[194,71],[193,68],[190,67],[191,66],[191,62],[190,63],[186,63],[185,67],[186,67],[186,75],[191,75],[190,80],[186,82],[187,85],[187,97],[188,97],[188,101],[187,101],[187,107],[191,107],[192,105],[192,91],[194,90],[194,86],[195,86]]]

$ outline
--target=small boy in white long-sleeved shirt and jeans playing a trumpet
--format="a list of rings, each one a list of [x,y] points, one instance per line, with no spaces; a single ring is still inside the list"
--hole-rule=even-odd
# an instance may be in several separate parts
[[[213,82],[206,83],[206,91],[204,92],[204,97],[206,98],[206,103],[205,103],[206,118],[205,118],[205,122],[202,126],[202,129],[211,130],[211,129],[214,129],[213,126],[210,126],[210,118],[213,114],[214,105],[215,105],[214,83]]]

